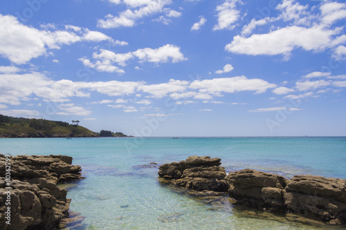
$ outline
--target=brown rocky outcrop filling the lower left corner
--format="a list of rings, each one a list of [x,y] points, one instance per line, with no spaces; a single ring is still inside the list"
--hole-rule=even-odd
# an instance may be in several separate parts
[[[17,155],[10,157],[8,186],[5,162],[0,154],[0,229],[59,228],[60,220],[69,215],[71,200],[57,184],[82,179],[81,167],[71,165],[72,157],[64,155]],[[5,218],[8,207],[10,225]]]

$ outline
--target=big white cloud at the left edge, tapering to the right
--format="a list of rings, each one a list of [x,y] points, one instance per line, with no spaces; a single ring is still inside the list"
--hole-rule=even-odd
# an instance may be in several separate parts
[[[0,14],[0,55],[15,64],[25,64],[47,54],[47,49],[59,49],[78,41],[104,41],[111,38],[101,32],[66,26],[66,30],[37,30],[25,26],[16,17]],[[78,32],[78,34],[76,33]]]

